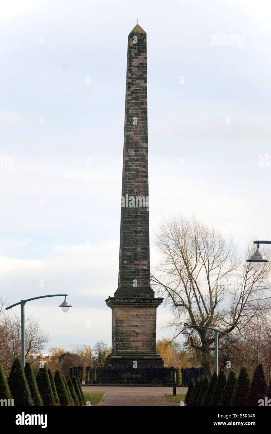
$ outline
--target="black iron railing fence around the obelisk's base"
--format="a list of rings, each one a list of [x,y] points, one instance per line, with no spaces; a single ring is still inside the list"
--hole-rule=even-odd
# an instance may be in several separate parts
[[[69,376],[79,378],[81,385],[88,384],[122,384],[122,385],[177,385],[190,383],[191,378],[197,380],[203,373],[203,368],[180,367],[142,367],[118,366],[114,368],[90,368],[89,366],[74,366],[69,368]]]

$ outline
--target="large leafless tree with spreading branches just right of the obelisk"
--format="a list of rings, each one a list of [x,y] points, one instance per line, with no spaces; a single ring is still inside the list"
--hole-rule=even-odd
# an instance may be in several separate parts
[[[164,220],[156,248],[162,259],[152,283],[171,308],[173,321],[168,325],[176,330],[190,322],[226,333],[240,331],[270,307],[271,263],[256,273],[251,263],[240,260],[231,238],[226,240],[197,218]],[[199,343],[195,332],[200,335]],[[203,372],[208,376],[214,340],[211,330],[200,327],[195,327],[189,338],[190,345],[201,352]]]

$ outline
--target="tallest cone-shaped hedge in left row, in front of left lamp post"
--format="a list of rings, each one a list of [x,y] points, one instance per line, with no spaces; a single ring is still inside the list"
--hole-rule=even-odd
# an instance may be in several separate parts
[[[11,367],[8,385],[11,396],[14,399],[14,407],[28,407],[33,405],[31,393],[19,357],[15,358]]]

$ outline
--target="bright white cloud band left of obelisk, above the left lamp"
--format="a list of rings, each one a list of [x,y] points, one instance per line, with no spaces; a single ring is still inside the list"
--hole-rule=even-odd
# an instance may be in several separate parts
[[[62,293],[76,294],[81,306],[86,298],[94,302],[98,297],[95,302],[103,304],[117,288],[119,245],[104,242],[95,246],[87,241],[85,245],[52,246],[47,251],[49,257],[41,259],[1,256],[2,287],[8,292],[9,301],[18,297],[18,288],[26,298],[59,293],[62,288]],[[35,250],[30,250],[30,254],[35,256]]]

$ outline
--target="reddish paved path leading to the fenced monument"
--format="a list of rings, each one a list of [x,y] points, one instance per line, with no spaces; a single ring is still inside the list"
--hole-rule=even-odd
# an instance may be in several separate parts
[[[83,390],[105,392],[99,405],[105,406],[175,406],[165,393],[172,393],[172,387],[117,387],[117,386],[82,386]],[[187,387],[177,387],[177,393],[187,392]]]

